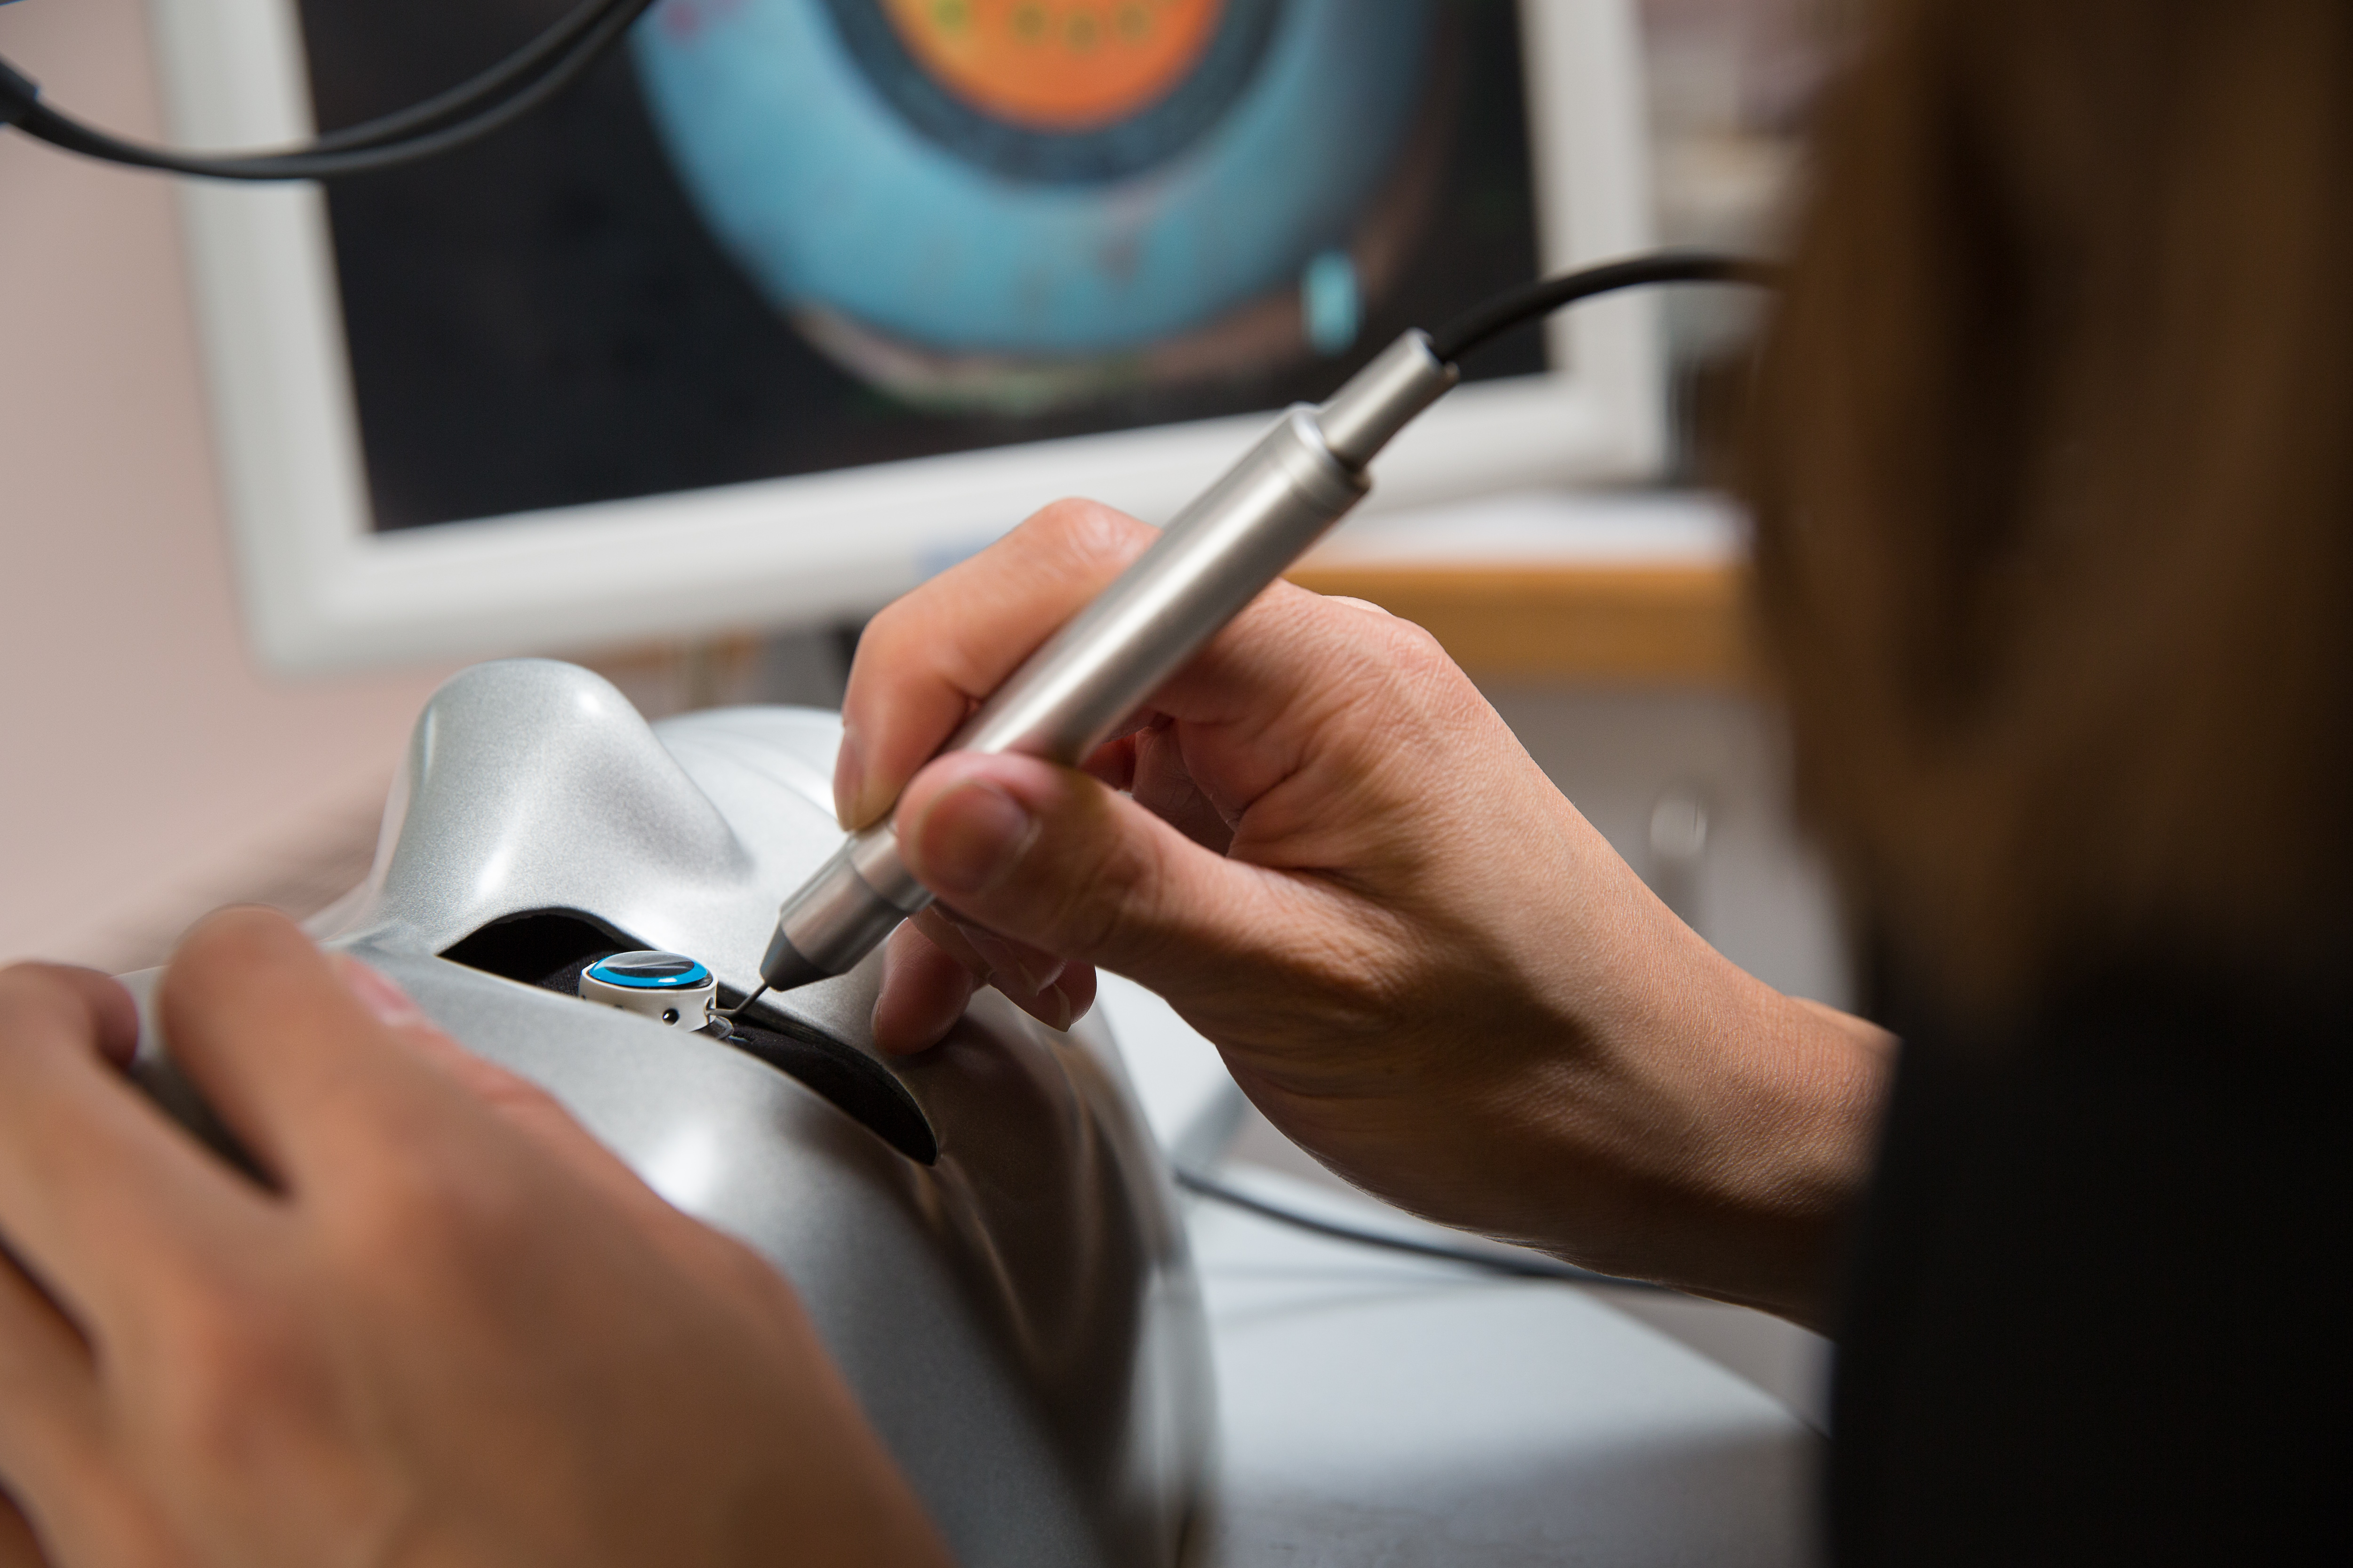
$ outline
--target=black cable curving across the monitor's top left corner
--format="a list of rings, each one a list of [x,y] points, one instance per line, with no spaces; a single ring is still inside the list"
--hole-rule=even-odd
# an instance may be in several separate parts
[[[336,179],[438,158],[506,129],[579,82],[654,0],[586,0],[562,21],[480,75],[424,103],[329,132],[285,153],[179,153],[122,141],[47,103],[40,87],[0,61],[0,125],[49,146],[134,169],[200,179]]]

